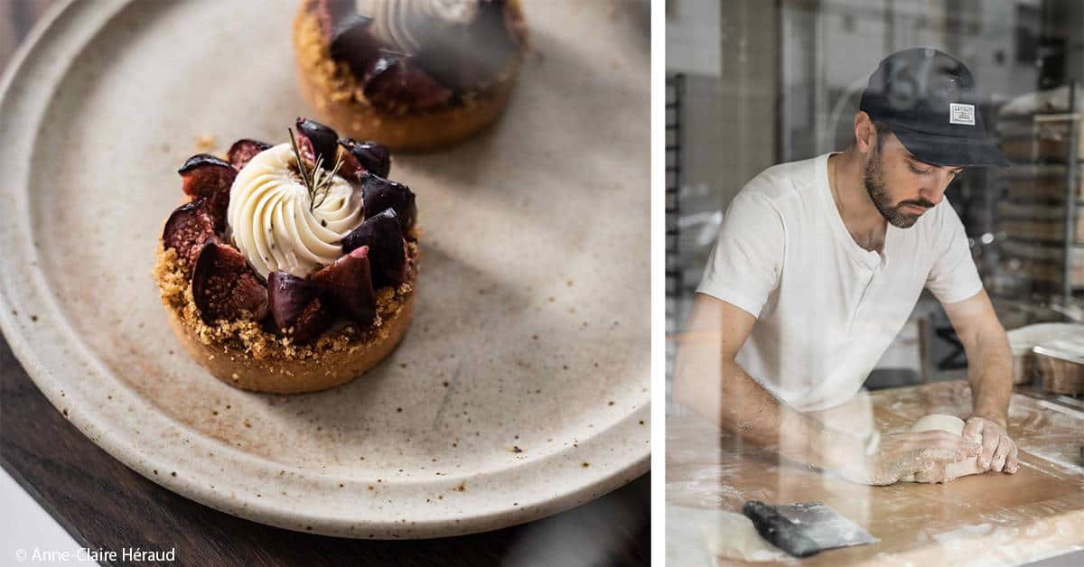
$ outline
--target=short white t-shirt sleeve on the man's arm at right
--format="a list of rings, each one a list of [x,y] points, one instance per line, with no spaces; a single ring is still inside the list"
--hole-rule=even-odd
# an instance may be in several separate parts
[[[982,291],[982,280],[971,259],[964,223],[949,202],[942,205],[944,211],[933,246],[937,256],[926,276],[926,288],[942,304],[955,304]]]

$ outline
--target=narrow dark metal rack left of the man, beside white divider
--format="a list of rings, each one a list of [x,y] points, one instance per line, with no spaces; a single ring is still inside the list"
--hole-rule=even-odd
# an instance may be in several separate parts
[[[666,286],[667,335],[678,331],[678,305],[682,293],[682,268],[679,249],[678,217],[681,212],[682,179],[682,101],[685,98],[685,76],[667,76],[666,106]],[[667,375],[673,371],[676,356],[674,343],[667,340]]]

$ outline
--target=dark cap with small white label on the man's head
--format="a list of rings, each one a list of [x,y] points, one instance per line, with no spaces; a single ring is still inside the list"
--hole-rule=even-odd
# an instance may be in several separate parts
[[[859,109],[892,127],[918,159],[949,167],[1009,167],[986,133],[967,67],[947,53],[893,53],[869,76]]]

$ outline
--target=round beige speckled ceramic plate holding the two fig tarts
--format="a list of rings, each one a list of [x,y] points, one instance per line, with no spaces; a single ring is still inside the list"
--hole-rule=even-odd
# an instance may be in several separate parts
[[[293,397],[177,346],[151,278],[176,170],[307,113],[294,4],[98,1],[44,18],[0,99],[0,325],[41,390],[140,474],[296,530],[425,538],[538,518],[648,467],[643,2],[532,1],[500,124],[398,155],[424,260],[399,349]]]

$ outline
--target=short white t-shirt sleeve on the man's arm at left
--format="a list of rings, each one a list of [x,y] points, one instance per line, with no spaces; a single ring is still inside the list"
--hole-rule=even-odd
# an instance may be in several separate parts
[[[779,285],[783,253],[778,210],[760,196],[738,193],[726,209],[696,291],[760,317]]]

